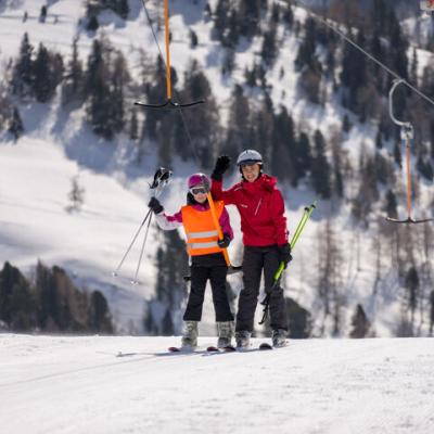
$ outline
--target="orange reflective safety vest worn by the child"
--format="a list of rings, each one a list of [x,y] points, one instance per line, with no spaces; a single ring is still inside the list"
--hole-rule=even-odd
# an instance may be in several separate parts
[[[225,209],[224,202],[215,202],[217,219]],[[218,233],[210,209],[197,210],[191,205],[182,206],[182,225],[187,234],[187,252],[190,256],[222,252],[217,244]]]

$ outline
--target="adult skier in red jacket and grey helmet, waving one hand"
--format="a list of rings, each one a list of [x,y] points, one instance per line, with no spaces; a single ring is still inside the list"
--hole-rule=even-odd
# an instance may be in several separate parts
[[[237,346],[248,347],[254,330],[254,317],[264,270],[266,292],[273,285],[273,277],[281,261],[291,260],[291,246],[284,217],[284,202],[276,187],[277,179],[263,173],[263,157],[254,150],[243,151],[238,159],[241,182],[222,190],[222,175],[230,158],[217,158],[212,174],[212,193],[226,205],[235,205],[241,216],[243,232],[243,283],[237,314]],[[273,346],[285,344],[288,320],[282,288],[270,293],[270,326]]]

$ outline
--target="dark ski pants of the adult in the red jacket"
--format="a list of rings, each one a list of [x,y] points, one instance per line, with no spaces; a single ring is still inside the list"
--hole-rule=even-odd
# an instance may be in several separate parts
[[[268,292],[280,265],[277,245],[265,247],[245,246],[243,257],[243,283],[240,292],[235,331],[254,330],[255,310],[258,302],[260,277],[264,270],[265,289]],[[283,289],[278,286],[270,293],[270,327],[288,330],[288,318]]]

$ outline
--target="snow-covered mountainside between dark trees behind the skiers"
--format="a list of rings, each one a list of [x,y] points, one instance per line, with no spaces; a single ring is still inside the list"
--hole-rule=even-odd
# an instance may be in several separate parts
[[[49,5],[48,17],[46,23],[40,23],[40,10],[46,3]],[[137,78],[140,75],[138,64],[142,53],[151,59],[157,55],[140,3],[129,2],[127,21],[112,12],[102,12],[99,15],[100,28],[92,34],[85,29],[82,23],[86,11],[82,1],[3,1],[0,4],[0,68],[5,69],[10,60],[17,55],[24,33],[28,33],[35,47],[43,42],[48,48],[62,53],[65,63],[71,59],[75,37],[78,38],[79,58],[86,63],[93,40],[105,35],[116,49],[124,52],[130,73]],[[314,3],[320,2],[309,2]],[[254,37],[250,44],[241,40],[237,48],[233,74],[224,77],[220,69],[225,52],[220,42],[212,38],[212,21],[203,17],[205,4],[204,0],[170,2],[171,63],[182,82],[190,61],[195,59],[199,62],[213,84],[219,116],[225,122],[229,115],[228,101],[232,88],[244,81],[245,68],[253,65],[260,50],[260,39]],[[215,8],[217,0],[209,1],[209,4]],[[162,14],[162,2],[148,1],[148,5],[152,18],[156,21],[158,14]],[[294,14],[301,22],[307,16],[303,8],[294,8]],[[408,26],[411,23],[410,20]],[[194,50],[189,43],[189,30],[194,30],[199,37]],[[280,38],[279,55],[273,66],[267,71],[267,78],[272,84],[270,94],[275,106],[286,106],[304,130],[311,132],[318,129],[326,137],[331,137],[342,127],[344,108],[332,93],[332,98],[323,105],[314,105],[301,95],[297,86],[299,73],[293,67],[301,37],[283,27],[278,27],[277,34]],[[162,30],[157,31],[157,39],[163,47]],[[418,52],[422,67],[430,62],[430,54],[423,50]],[[282,76],[283,67],[285,74]],[[259,100],[254,90],[248,97],[254,103]],[[130,99],[128,104],[132,106],[132,103]],[[141,284],[132,286],[129,283],[136,271],[138,251],[125,263],[125,278],[113,279],[112,271],[146,212],[150,195],[148,182],[157,166],[158,143],[146,142],[143,161],[136,164],[133,144],[125,133],[116,136],[112,142],[97,138],[82,120],[84,108],[72,106],[64,110],[59,92],[50,104],[24,101],[20,110],[25,136],[17,143],[12,143],[4,136],[0,137],[0,265],[10,260],[27,275],[31,275],[38,258],[47,265],[64,267],[79,284],[104,292],[119,332],[141,332],[144,302],[154,293],[155,253],[162,241],[155,226],[151,228],[150,242],[138,276]],[[345,158],[357,170],[359,156],[375,149],[376,125],[359,124],[357,116],[350,117],[354,127],[343,137],[341,144]],[[392,148],[383,149],[382,154],[390,156]],[[174,180],[162,199],[168,212],[176,212],[184,201],[186,176],[201,167],[175,158],[170,168],[174,169]],[[85,189],[85,205],[81,212],[71,214],[65,207],[68,205],[71,180],[77,175],[80,187]],[[404,173],[399,175],[403,176],[398,176],[394,190],[399,196],[399,214],[404,215],[405,178]],[[237,179],[235,175],[225,182],[229,186]],[[356,195],[358,179],[355,175],[349,174],[345,182],[350,195]],[[282,184],[281,189],[285,199],[288,226],[290,232],[293,232],[304,206],[318,197],[305,182],[298,184],[297,189],[288,183]],[[420,201],[414,203],[416,215],[422,215],[431,197],[432,183],[421,181]],[[365,231],[354,226],[350,207],[350,203],[345,201],[319,201],[286,272],[286,296],[312,314],[314,335],[323,334],[324,330],[326,334],[331,334],[332,318],[329,316],[323,319],[324,307],[317,293],[320,285],[319,251],[324,239],[326,221],[329,220],[340,256],[341,275],[336,280],[339,290],[333,296],[344,306],[336,314],[341,335],[348,335],[350,317],[359,303],[371,321],[371,335],[395,335],[401,318],[399,303],[405,298],[406,290],[397,275],[394,258],[384,253],[388,246],[383,245],[383,251],[380,251],[381,246],[376,242],[375,231],[381,227],[384,209],[380,203],[374,206],[370,216],[372,226],[370,231]],[[230,253],[235,257],[241,244],[239,218],[233,208],[230,207],[229,212],[237,235]],[[417,240],[423,240],[421,228],[414,228],[413,233]],[[380,277],[376,273],[379,263]],[[379,293],[378,279],[383,279],[382,291]],[[240,282],[235,279],[233,282],[235,291],[239,291]],[[429,309],[427,292],[424,297],[421,315],[417,316],[417,333],[420,335],[426,335],[429,329],[424,317]],[[206,303],[204,332],[212,334],[214,318],[209,294]]]

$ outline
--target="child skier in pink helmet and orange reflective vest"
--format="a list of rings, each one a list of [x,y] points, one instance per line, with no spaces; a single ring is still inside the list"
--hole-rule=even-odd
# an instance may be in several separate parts
[[[210,181],[204,174],[194,174],[188,180],[187,205],[175,215],[167,215],[159,201],[152,197],[149,207],[154,212],[156,221],[163,230],[173,230],[183,226],[187,234],[187,251],[191,256],[191,288],[183,315],[182,348],[197,346],[197,323],[202,318],[206,281],[209,279],[213,303],[216,311],[218,341],[222,348],[231,345],[233,336],[233,315],[226,292],[228,266],[222,250],[233,239],[229,214],[224,202],[215,202],[215,210],[224,239],[218,240],[217,228],[209,208],[207,192]]]

